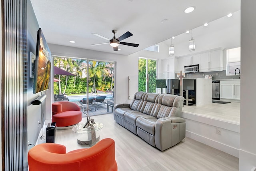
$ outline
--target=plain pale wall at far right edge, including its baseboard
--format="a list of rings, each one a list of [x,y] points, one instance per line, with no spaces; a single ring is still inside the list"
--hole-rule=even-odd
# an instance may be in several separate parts
[[[239,170],[256,167],[256,110],[255,110],[255,0],[241,0],[241,114]]]

